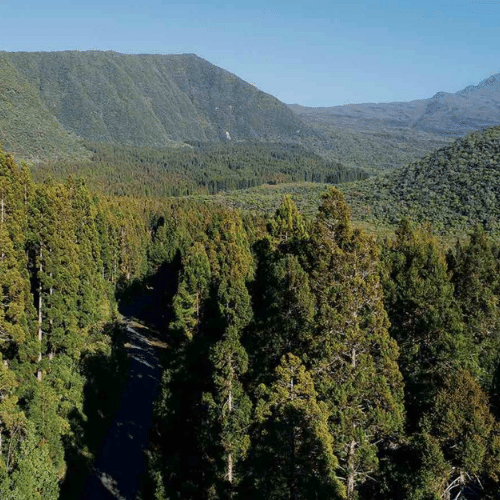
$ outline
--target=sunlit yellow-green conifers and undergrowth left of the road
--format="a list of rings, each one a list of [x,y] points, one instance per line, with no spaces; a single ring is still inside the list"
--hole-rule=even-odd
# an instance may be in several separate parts
[[[109,340],[102,329],[113,314],[110,285],[141,267],[127,237],[141,214],[134,208],[129,220],[114,210],[72,179],[34,186],[0,151],[2,498],[56,499],[68,457],[87,453],[89,466],[89,450],[75,450],[85,448],[77,433],[89,410],[82,360]],[[144,219],[139,232],[145,255]]]

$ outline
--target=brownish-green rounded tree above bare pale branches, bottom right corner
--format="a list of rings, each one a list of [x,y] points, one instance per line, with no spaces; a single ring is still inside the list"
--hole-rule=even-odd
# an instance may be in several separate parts
[[[422,467],[412,498],[462,498],[466,491],[493,498],[498,493],[499,426],[487,395],[468,371],[446,378],[415,441]]]

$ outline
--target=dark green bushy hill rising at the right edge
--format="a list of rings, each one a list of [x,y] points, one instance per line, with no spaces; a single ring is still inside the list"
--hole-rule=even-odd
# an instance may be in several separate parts
[[[345,185],[365,218],[431,221],[438,230],[473,224],[500,230],[500,126],[456,139],[420,161],[378,178]]]

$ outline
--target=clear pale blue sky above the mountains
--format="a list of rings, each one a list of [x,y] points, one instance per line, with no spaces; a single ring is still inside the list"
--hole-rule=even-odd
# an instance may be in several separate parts
[[[288,104],[456,92],[500,72],[500,0],[0,0],[0,50],[195,53]]]

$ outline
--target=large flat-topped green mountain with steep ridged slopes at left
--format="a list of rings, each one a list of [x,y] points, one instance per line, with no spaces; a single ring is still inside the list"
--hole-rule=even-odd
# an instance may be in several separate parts
[[[37,134],[77,150],[77,138],[165,147],[290,140],[305,128],[278,99],[194,54],[0,52],[0,75],[0,139],[22,156],[36,155]]]

